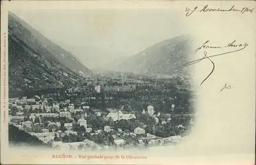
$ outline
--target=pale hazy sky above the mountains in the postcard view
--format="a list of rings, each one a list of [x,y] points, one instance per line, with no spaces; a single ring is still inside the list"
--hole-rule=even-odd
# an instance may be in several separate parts
[[[186,34],[180,14],[167,9],[12,12],[51,40],[69,45],[112,48],[129,54]]]

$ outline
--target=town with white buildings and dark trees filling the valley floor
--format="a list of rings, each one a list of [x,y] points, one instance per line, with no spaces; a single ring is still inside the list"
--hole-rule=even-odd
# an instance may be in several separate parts
[[[123,74],[9,98],[10,124],[61,149],[147,148],[185,138],[194,123],[188,78]]]

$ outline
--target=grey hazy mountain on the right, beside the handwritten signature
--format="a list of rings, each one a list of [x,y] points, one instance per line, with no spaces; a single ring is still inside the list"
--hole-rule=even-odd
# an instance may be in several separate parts
[[[115,67],[119,71],[145,74],[185,74],[189,68],[191,36],[183,35],[156,43]]]

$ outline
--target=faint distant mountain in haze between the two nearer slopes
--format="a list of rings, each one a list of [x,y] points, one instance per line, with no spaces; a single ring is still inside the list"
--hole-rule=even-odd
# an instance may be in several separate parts
[[[74,54],[74,56],[76,56],[91,70],[109,70],[110,66],[108,64],[113,60],[129,57],[128,54],[112,48],[101,48],[97,46],[73,46],[58,41],[54,42]]]

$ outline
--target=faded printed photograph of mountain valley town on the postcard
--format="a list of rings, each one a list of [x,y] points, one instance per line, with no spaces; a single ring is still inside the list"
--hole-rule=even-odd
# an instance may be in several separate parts
[[[183,66],[193,37],[179,20],[159,18],[169,13],[10,11],[9,145],[178,145],[195,122],[191,70]]]

